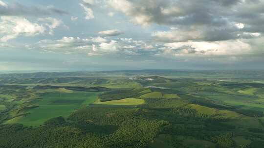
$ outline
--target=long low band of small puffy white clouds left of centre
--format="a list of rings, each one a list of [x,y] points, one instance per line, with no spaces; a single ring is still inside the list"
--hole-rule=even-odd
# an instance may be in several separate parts
[[[104,37],[63,37],[58,40],[42,40],[35,49],[45,53],[63,53],[88,56],[141,55],[153,52],[154,45],[132,38],[108,39]]]

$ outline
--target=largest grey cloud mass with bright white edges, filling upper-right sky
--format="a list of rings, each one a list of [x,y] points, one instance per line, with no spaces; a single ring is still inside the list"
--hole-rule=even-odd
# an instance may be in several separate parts
[[[165,25],[156,41],[220,41],[264,33],[263,0],[108,0],[108,5],[144,27]],[[164,36],[164,37],[162,37]],[[171,38],[171,39],[170,39]]]

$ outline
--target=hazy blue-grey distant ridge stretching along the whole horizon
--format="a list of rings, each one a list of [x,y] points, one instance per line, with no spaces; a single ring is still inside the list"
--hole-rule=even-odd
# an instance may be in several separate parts
[[[264,78],[264,71],[195,71],[195,70],[124,70],[101,72],[38,72],[24,74],[0,74],[0,78],[50,78],[50,77],[131,77],[131,76],[164,76],[203,78]]]

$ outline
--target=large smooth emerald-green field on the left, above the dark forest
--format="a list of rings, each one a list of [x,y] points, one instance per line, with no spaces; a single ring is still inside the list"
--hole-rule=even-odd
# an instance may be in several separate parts
[[[73,111],[87,106],[97,99],[96,92],[72,92],[58,93],[50,92],[41,95],[43,99],[32,101],[39,107],[31,109],[29,115],[11,119],[6,124],[20,123],[25,126],[40,126],[44,121],[63,116],[67,117]]]

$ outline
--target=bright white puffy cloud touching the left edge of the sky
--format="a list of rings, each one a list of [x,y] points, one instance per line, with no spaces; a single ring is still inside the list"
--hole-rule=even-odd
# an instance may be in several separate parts
[[[53,18],[40,19],[44,23],[30,22],[22,17],[0,17],[0,33],[3,36],[0,41],[6,42],[18,36],[33,37],[40,34],[53,34],[53,29],[58,27],[62,22]]]

